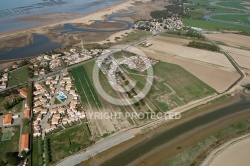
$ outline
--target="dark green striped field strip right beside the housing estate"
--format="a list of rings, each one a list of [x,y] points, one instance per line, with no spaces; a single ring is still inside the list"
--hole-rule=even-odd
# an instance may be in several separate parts
[[[90,78],[84,66],[76,67],[71,70],[71,75],[74,78],[78,94],[81,96],[83,106],[88,106],[88,102],[92,108],[102,108],[101,101],[93,87]]]

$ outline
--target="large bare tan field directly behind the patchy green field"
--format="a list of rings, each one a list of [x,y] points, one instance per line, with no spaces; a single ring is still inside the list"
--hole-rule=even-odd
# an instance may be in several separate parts
[[[169,42],[164,43],[164,41],[160,42],[157,39],[155,39],[155,41],[156,42],[153,44],[156,44],[156,46],[152,45],[148,48],[139,48],[150,58],[177,64],[183,67],[185,70],[199,78],[201,81],[219,93],[227,90],[240,77],[240,75],[233,69],[232,65],[223,54],[213,54],[214,52],[211,51],[188,48],[185,46],[180,46],[179,44],[171,44],[170,47]],[[180,50],[180,48],[182,48],[182,50]],[[202,51],[204,54],[198,54],[199,51]],[[196,54],[196,58],[198,57],[199,59],[194,60],[190,58],[193,57],[194,54]],[[213,57],[214,60],[212,59]],[[215,62],[215,59],[217,59],[217,62]],[[223,61],[224,65],[230,66],[230,68],[218,66],[223,64]],[[222,63],[220,64],[220,62]],[[216,63],[217,65],[211,63]]]

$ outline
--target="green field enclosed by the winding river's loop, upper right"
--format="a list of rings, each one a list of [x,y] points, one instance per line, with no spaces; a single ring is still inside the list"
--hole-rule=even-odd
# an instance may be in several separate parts
[[[225,20],[225,21],[232,21],[232,22],[239,22],[243,24],[250,24],[248,20],[249,15],[217,15],[213,16],[213,19],[216,20]]]

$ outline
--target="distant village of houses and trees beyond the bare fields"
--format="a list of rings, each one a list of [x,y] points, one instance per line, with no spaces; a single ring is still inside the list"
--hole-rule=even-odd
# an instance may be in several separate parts
[[[172,17],[163,19],[162,22],[159,22],[155,19],[137,21],[133,27],[138,30],[145,30],[155,33],[166,30],[180,30],[183,28],[183,23],[178,15],[173,14]]]

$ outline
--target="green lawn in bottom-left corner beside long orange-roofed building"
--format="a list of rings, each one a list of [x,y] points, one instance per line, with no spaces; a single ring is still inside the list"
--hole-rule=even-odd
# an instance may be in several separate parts
[[[20,126],[13,127],[14,135],[11,140],[0,142],[0,160],[5,160],[5,154],[7,152],[18,152],[19,149],[19,137],[20,137]],[[0,134],[2,137],[2,133]]]

